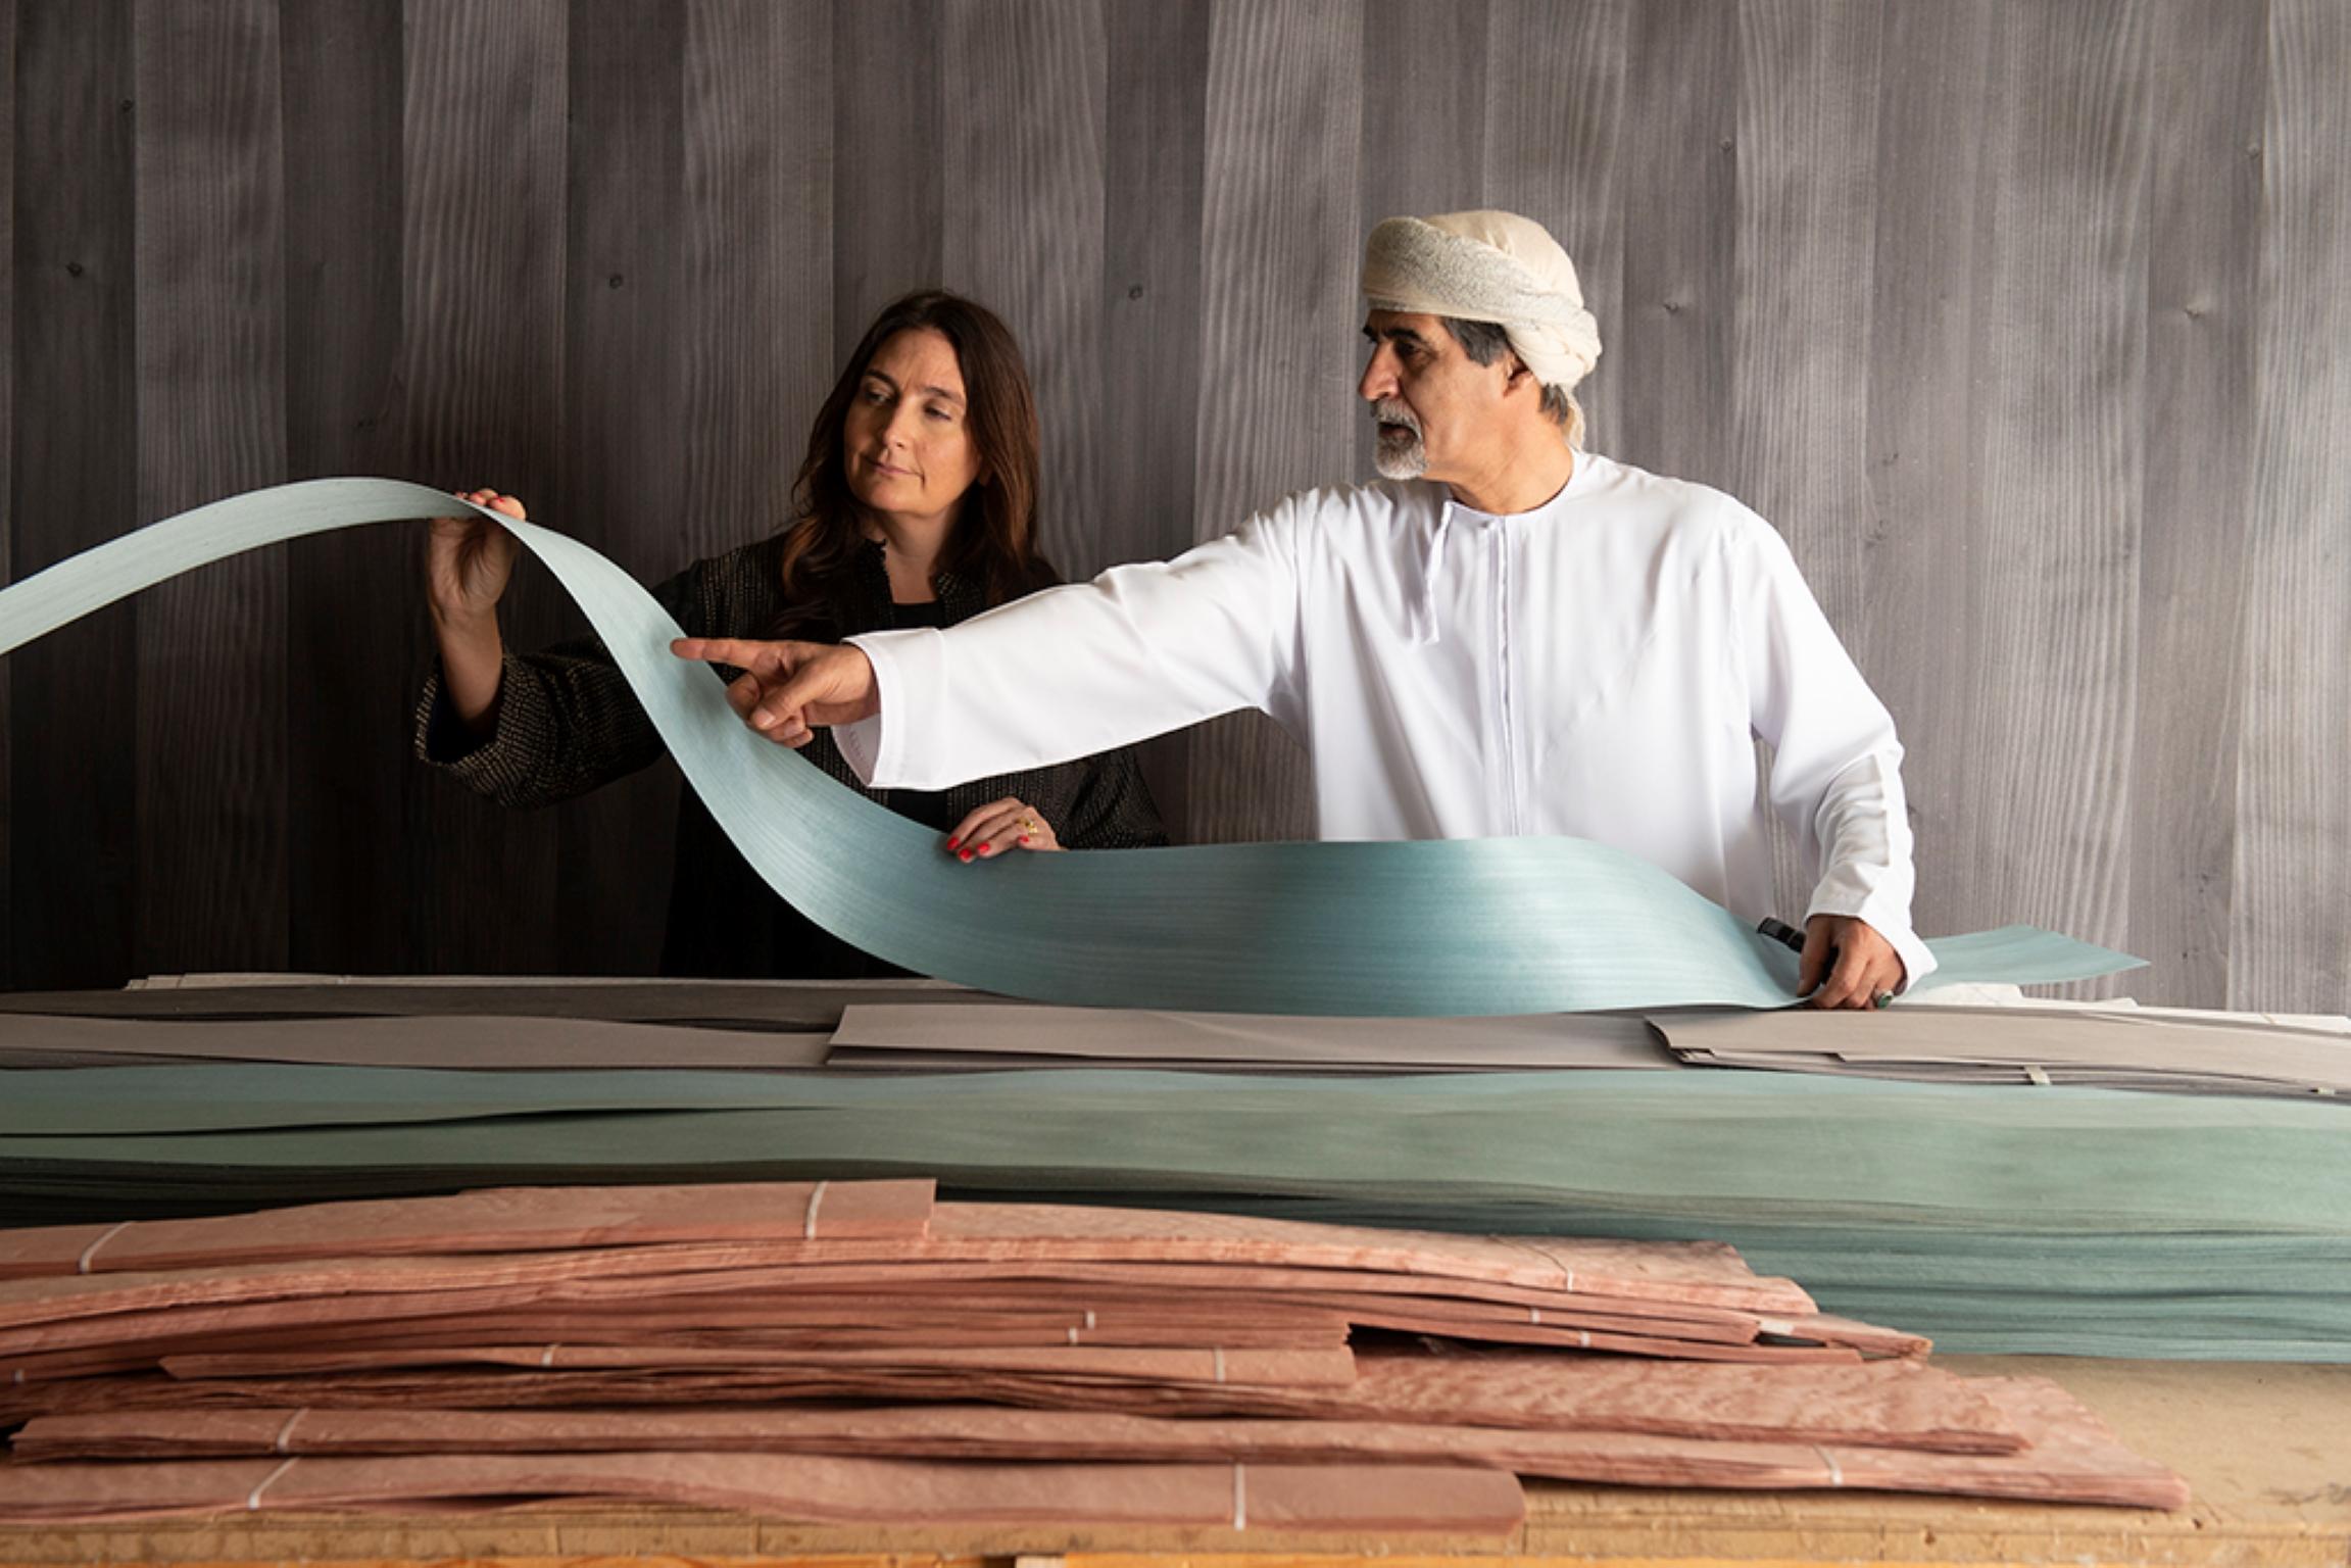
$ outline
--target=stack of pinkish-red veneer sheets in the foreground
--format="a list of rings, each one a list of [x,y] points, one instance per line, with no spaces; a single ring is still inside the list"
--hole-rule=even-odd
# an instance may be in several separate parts
[[[0,1232],[0,1521],[541,1500],[1498,1535],[1516,1476],[2182,1507],[1728,1246],[536,1187]]]

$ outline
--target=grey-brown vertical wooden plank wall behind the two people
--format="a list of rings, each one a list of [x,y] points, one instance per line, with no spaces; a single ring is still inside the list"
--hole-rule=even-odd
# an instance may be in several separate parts
[[[1065,571],[1161,557],[1368,473],[1361,235],[1502,205],[1594,444],[1773,517],[1893,705],[1928,931],[2351,1006],[2344,0],[0,0],[0,571],[393,473],[663,576],[919,284],[1020,331]],[[303,541],[7,661],[7,983],[649,969],[675,776],[411,764],[416,578]],[[1270,724],[1150,766],[1310,825]]]

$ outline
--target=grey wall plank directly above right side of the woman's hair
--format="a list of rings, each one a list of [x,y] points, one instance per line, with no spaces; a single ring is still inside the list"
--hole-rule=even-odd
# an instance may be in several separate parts
[[[1103,141],[1098,0],[950,0],[943,277],[1020,339],[1044,433],[1041,543],[1065,576],[1136,555],[1103,510]],[[969,92],[987,82],[987,92]]]

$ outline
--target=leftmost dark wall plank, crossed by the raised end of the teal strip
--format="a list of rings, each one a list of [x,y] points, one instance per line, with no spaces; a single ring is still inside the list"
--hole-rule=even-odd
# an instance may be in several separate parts
[[[19,0],[12,567],[139,522],[129,0]],[[38,393],[38,395],[26,395]],[[136,635],[120,604],[9,656],[12,976],[118,985],[136,929]]]

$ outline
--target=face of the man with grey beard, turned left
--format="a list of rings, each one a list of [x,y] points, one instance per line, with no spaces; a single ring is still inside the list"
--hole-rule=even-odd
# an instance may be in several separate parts
[[[1491,444],[1509,355],[1476,364],[1441,320],[1401,310],[1373,310],[1364,336],[1371,362],[1357,390],[1378,425],[1380,477],[1474,477],[1469,458]]]

